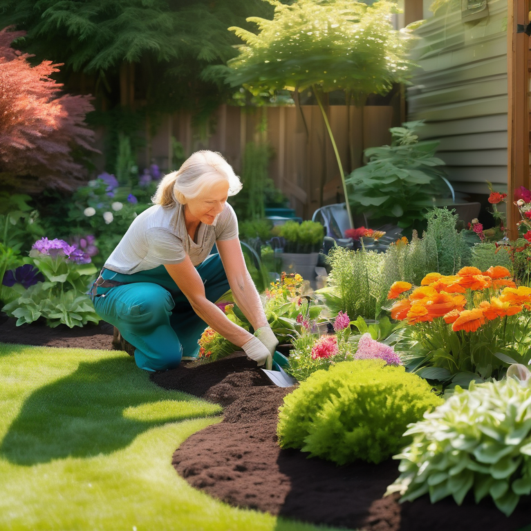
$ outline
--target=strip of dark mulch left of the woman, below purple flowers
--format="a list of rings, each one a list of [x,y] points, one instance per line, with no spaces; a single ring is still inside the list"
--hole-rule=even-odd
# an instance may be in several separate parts
[[[103,351],[113,349],[113,326],[104,321],[99,324],[68,328],[60,324],[49,328],[45,322],[16,326],[12,317],[0,324],[0,343],[14,343],[35,346],[58,346],[61,348],[97,348]]]

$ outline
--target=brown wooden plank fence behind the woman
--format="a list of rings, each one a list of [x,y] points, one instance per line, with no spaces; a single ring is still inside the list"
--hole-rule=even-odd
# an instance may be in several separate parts
[[[147,142],[147,149],[138,154],[138,162],[142,168],[154,159],[161,168],[168,168],[173,136],[183,144],[186,156],[198,149],[220,151],[237,173],[247,142],[267,140],[274,153],[270,178],[290,198],[298,216],[311,218],[315,209],[344,198],[337,161],[319,107],[302,105],[301,111],[306,127],[295,106],[249,109],[222,105],[212,117],[209,135],[203,139],[192,127],[191,113],[167,115],[156,135]],[[363,149],[388,144],[389,127],[400,123],[400,109],[393,106],[351,106],[350,113],[352,156],[348,152],[347,107],[328,106],[330,127],[346,172],[361,165]],[[266,128],[260,132],[262,123]]]

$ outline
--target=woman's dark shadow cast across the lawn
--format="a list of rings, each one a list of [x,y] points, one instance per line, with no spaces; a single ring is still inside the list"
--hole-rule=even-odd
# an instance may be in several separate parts
[[[160,400],[174,402],[153,404]],[[76,371],[25,400],[0,453],[18,465],[110,454],[151,427],[218,411],[189,395],[160,389],[132,360],[82,362]]]

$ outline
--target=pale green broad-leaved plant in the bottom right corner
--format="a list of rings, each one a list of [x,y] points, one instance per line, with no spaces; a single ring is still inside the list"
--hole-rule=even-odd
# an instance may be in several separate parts
[[[492,497],[509,516],[531,493],[531,388],[507,378],[456,392],[404,436],[400,477],[386,494],[401,502],[429,494],[431,503],[453,496],[458,505],[472,490],[476,503]]]

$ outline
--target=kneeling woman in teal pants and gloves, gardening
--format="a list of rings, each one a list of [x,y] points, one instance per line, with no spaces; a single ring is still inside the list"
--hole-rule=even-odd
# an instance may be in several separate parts
[[[140,369],[164,371],[198,356],[206,326],[270,365],[277,338],[245,266],[238,221],[227,203],[241,190],[219,154],[197,151],[162,178],[153,207],[135,218],[93,285],[97,315],[135,351]],[[210,254],[216,243],[218,254]],[[255,333],[214,302],[228,289]]]

